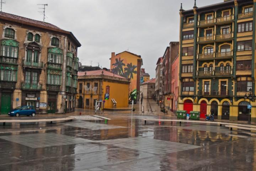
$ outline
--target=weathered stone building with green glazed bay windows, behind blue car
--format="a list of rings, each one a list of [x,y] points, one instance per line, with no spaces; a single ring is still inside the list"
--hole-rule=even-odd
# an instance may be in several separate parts
[[[74,111],[80,46],[50,23],[0,12],[0,114],[21,105]]]

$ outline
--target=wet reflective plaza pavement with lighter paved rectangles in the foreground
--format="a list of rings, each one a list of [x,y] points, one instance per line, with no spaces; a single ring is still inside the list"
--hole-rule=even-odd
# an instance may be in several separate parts
[[[0,171],[256,171],[256,139],[164,116],[0,125]]]

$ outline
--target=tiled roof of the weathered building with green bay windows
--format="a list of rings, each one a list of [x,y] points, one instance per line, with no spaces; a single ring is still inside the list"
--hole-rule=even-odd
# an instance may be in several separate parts
[[[65,34],[69,34],[71,36],[71,38],[74,39],[74,41],[78,44],[78,47],[81,46],[80,42],[75,38],[75,36],[73,35],[72,32],[69,31],[65,31],[51,23],[47,23],[47,22],[43,22],[43,21],[38,21],[38,20],[33,20],[31,18],[26,18],[26,17],[21,17],[21,16],[17,16],[14,14],[9,14],[6,12],[1,12],[0,11],[0,19],[3,20],[8,20],[8,21],[14,21],[17,23],[21,23],[21,24],[26,24],[26,25],[30,25],[30,26],[34,26],[34,27],[40,27],[40,28],[44,28],[47,30],[52,30],[52,31],[57,31],[57,32],[61,32],[61,33],[65,33]]]

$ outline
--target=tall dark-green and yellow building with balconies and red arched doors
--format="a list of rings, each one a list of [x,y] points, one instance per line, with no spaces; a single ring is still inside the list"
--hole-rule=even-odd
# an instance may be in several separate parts
[[[181,5],[178,109],[256,122],[256,103],[250,112],[245,99],[255,94],[255,11],[255,0]]]

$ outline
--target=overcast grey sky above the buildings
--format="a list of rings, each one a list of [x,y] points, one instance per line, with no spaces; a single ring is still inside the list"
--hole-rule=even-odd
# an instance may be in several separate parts
[[[143,68],[155,77],[156,62],[170,41],[178,41],[179,9],[192,9],[194,0],[5,0],[2,11],[43,20],[37,4],[48,4],[46,22],[71,31],[82,44],[83,65],[110,68],[111,52],[141,55]],[[223,0],[215,0],[214,3]],[[212,4],[197,0],[197,6]]]

